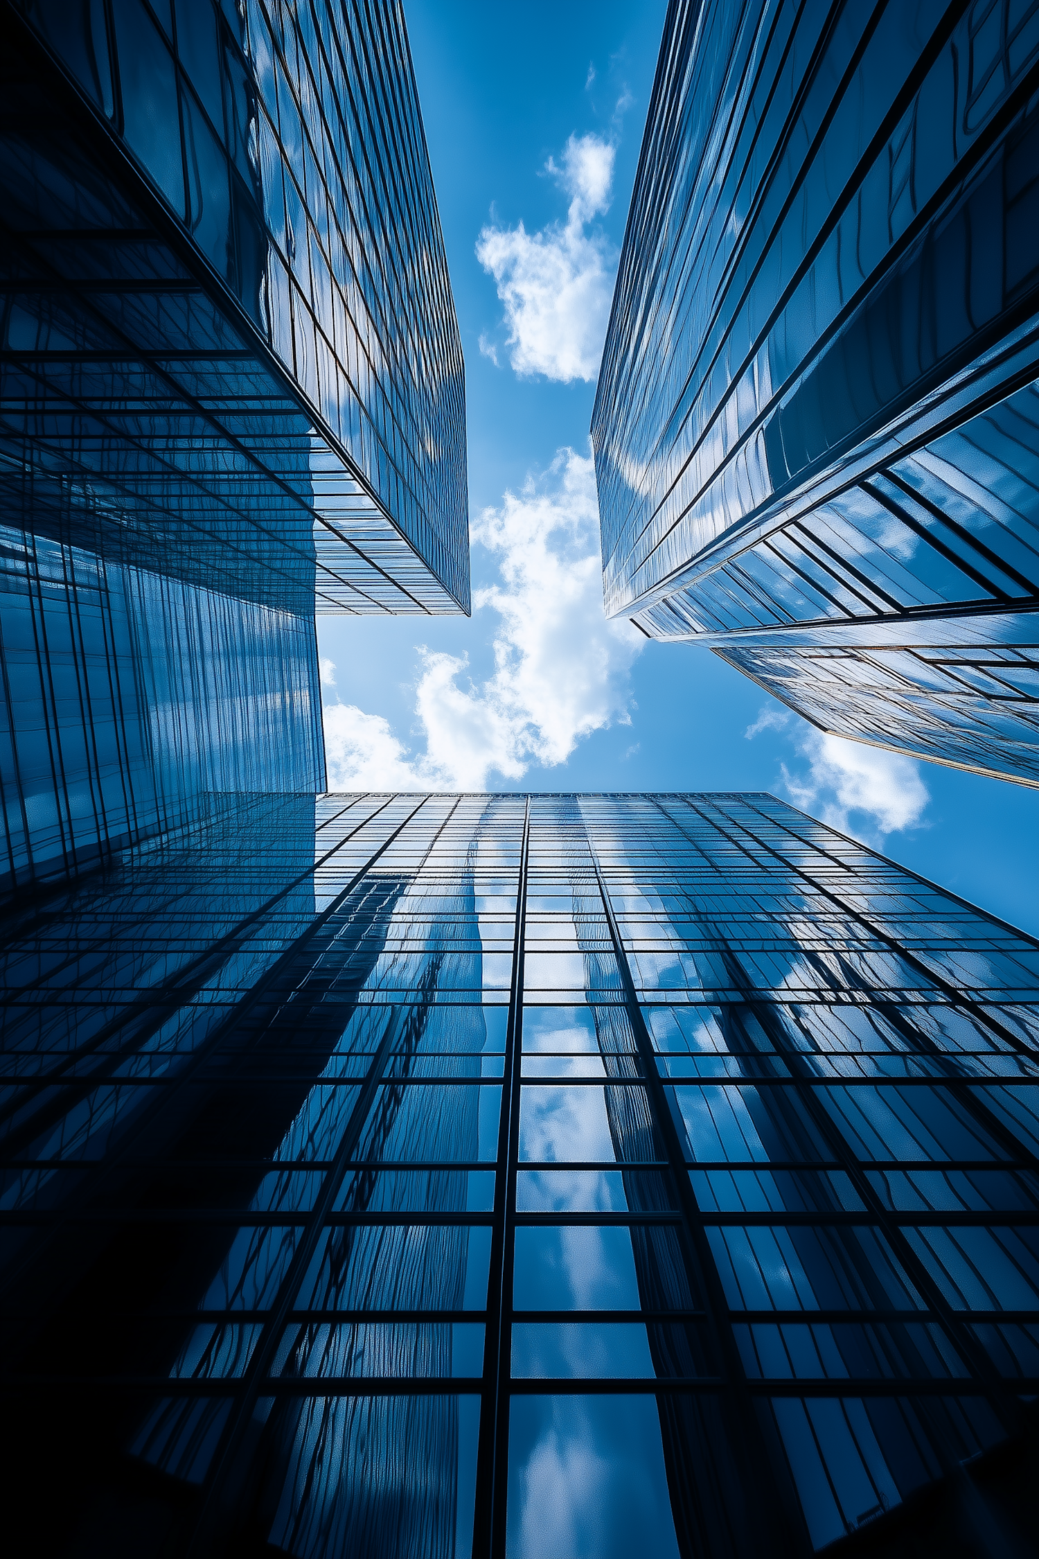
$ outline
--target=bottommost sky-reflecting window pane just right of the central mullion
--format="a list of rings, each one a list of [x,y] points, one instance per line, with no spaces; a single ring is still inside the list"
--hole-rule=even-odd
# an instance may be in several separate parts
[[[678,1559],[653,1397],[516,1397],[508,1559]]]

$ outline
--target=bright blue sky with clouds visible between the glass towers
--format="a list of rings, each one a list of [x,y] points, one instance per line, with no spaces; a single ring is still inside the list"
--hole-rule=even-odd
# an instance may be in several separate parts
[[[662,0],[405,14],[466,354],[475,610],[319,619],[335,789],[771,790],[1039,931],[1039,795],[822,739],[606,624],[587,429]],[[752,734],[748,734],[752,733]]]

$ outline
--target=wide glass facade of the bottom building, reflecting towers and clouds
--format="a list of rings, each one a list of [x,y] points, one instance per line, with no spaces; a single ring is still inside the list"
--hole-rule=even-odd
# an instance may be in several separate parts
[[[5,946],[34,1553],[1034,1553],[1020,932],[765,795],[268,795]]]

